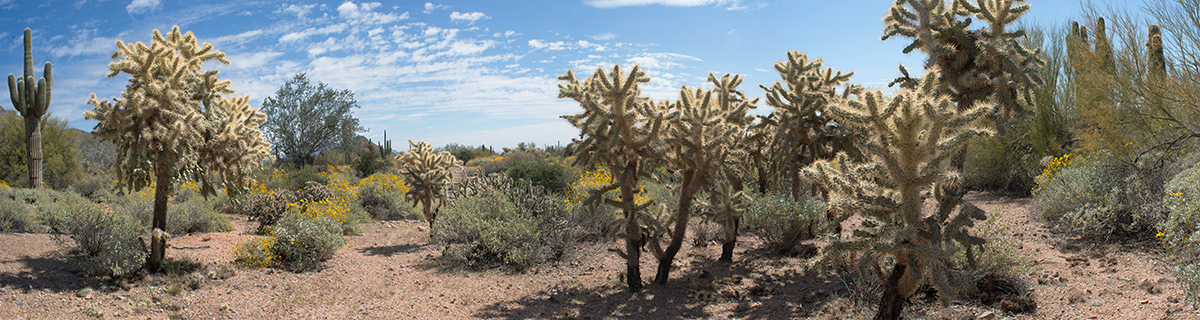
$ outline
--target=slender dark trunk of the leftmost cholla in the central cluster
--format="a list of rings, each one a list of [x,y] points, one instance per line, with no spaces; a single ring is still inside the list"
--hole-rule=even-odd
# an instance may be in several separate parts
[[[625,163],[620,185],[620,201],[625,203],[625,282],[629,291],[642,290],[642,228],[638,224],[637,205],[634,203],[634,189],[637,187],[637,156]]]

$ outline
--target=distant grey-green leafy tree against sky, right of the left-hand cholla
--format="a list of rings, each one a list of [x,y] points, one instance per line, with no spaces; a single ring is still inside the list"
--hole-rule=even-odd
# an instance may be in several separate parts
[[[263,132],[280,162],[312,164],[320,152],[349,145],[364,132],[354,108],[359,105],[349,89],[335,90],[319,81],[313,85],[299,73],[263,101]]]

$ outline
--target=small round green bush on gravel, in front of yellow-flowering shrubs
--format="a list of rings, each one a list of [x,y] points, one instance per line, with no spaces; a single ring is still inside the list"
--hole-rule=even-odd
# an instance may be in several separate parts
[[[289,215],[271,229],[271,253],[282,267],[294,272],[316,270],[346,244],[342,225],[328,216]]]

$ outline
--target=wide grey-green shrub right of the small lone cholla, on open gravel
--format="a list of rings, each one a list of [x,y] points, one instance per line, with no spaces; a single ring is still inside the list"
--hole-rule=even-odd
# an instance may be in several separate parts
[[[476,177],[434,223],[432,240],[443,256],[472,267],[524,270],[557,259],[570,246],[562,200],[527,180],[504,175]]]

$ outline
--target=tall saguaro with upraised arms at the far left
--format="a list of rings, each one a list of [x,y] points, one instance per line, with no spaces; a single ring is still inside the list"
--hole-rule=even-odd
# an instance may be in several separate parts
[[[50,91],[54,89],[54,73],[50,62],[46,61],[42,78],[34,74],[34,38],[25,28],[25,77],[16,78],[8,73],[8,93],[12,107],[25,117],[25,152],[29,167],[29,185],[42,188],[42,116],[50,105]],[[35,83],[36,79],[36,83]]]

